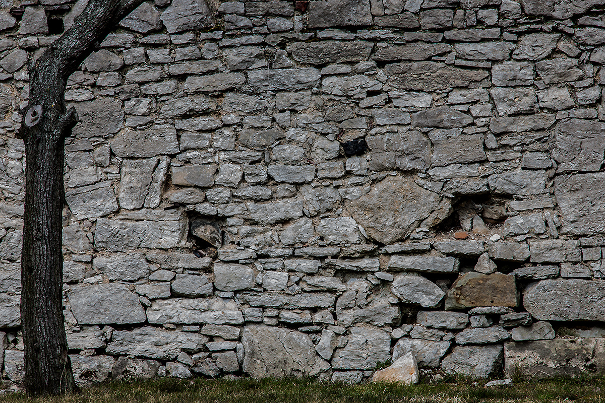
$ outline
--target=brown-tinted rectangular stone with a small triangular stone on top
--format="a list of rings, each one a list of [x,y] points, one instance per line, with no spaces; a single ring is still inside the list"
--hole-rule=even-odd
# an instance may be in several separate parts
[[[445,309],[474,308],[476,306],[517,306],[515,276],[502,273],[482,274],[468,272],[458,277],[445,298]]]

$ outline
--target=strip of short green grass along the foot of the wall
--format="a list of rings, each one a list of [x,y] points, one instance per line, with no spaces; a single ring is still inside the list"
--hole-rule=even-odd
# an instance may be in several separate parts
[[[6,403],[391,403],[391,402],[605,402],[605,378],[518,382],[485,388],[485,381],[456,379],[420,383],[344,385],[310,379],[155,379],[108,382],[77,395],[28,399],[22,393],[0,396]],[[601,392],[603,391],[603,392]]]

